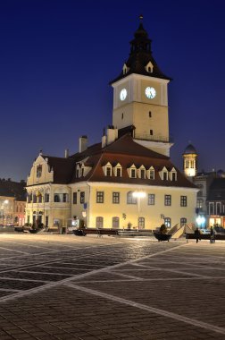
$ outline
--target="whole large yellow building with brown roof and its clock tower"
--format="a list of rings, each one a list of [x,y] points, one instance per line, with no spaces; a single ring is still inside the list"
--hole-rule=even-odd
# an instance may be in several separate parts
[[[28,182],[27,222],[154,229],[192,224],[196,186],[170,160],[170,78],[155,63],[142,22],[114,81],[112,123],[101,143],[65,157],[39,154]]]

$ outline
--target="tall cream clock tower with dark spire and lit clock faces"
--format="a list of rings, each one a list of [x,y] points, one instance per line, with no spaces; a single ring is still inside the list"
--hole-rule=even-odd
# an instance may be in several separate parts
[[[134,140],[148,149],[170,156],[168,83],[154,61],[148,34],[140,24],[130,41],[129,58],[113,88],[112,124],[121,129],[133,125]]]

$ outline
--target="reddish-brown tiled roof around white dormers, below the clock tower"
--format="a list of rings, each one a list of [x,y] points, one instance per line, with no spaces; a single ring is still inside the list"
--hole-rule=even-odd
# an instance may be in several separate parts
[[[86,157],[87,152],[84,151],[79,154],[79,161]],[[104,175],[103,166],[105,166],[108,162],[111,163],[112,166],[116,166],[118,163],[121,165],[123,169],[121,177]],[[76,174],[74,174],[71,181],[72,183],[88,181],[196,188],[193,183],[187,180],[184,174],[179,172],[178,168],[173,166],[169,157],[163,156],[162,154],[154,152],[151,149],[146,149],[145,147],[137,144],[129,134],[123,135],[120,139],[115,140],[104,149],[96,149],[96,153],[87,158],[86,164],[93,166],[90,172],[86,176],[79,178],[76,178]],[[149,181],[147,178],[130,178],[127,169],[133,164],[137,166],[137,168],[143,165],[146,169],[153,166],[155,170],[155,179]],[[173,167],[176,169],[178,175],[177,181],[161,180],[159,172],[162,171],[164,166],[168,171],[171,171]]]

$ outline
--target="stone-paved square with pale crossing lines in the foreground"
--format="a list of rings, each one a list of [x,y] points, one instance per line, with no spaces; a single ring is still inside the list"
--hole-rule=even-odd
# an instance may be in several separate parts
[[[225,339],[225,242],[0,234],[0,340]]]

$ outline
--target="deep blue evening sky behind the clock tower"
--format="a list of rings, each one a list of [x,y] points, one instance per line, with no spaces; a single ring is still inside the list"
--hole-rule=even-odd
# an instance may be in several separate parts
[[[171,76],[171,159],[188,140],[199,170],[225,170],[224,0],[0,1],[0,178],[27,179],[39,149],[64,156],[101,140],[138,15]]]

